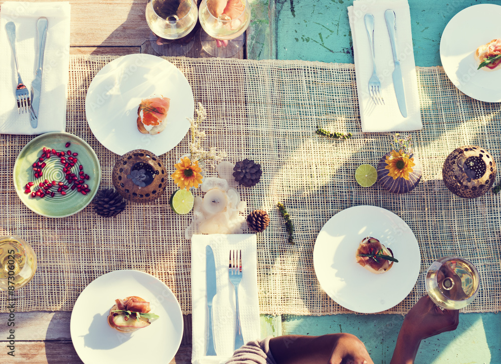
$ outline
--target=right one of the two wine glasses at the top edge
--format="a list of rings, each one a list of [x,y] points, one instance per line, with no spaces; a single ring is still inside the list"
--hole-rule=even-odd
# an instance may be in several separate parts
[[[232,57],[243,48],[250,5],[247,0],[203,0],[198,19],[205,31],[200,31],[202,49],[214,57]]]

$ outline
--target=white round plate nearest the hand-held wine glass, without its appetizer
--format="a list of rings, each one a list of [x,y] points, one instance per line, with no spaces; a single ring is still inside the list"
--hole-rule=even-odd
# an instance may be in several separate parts
[[[356,252],[367,236],[391,249],[398,263],[375,274],[359,265]],[[334,301],[355,312],[375,313],[400,303],[414,287],[421,266],[416,237],[393,212],[376,206],[340,211],[320,230],[313,250],[320,285]]]

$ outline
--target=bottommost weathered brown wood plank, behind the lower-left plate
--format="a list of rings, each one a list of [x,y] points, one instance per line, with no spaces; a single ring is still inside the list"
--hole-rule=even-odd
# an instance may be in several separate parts
[[[5,347],[4,345],[2,345]],[[0,352],[0,362],[16,364],[82,364],[71,341],[17,341],[15,356]],[[191,346],[181,346],[169,364],[191,363]]]

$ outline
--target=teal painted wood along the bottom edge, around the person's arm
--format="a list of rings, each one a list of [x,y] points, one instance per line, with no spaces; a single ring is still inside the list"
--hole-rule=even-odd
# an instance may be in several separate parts
[[[357,335],[376,364],[390,362],[403,316],[393,314],[282,316],[282,334]],[[501,314],[461,313],[455,331],[421,342],[416,363],[501,363]]]

